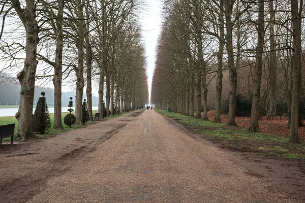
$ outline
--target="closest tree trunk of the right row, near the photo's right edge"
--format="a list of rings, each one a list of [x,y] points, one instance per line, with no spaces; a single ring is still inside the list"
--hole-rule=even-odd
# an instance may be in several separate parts
[[[300,88],[301,88],[301,17],[303,0],[291,0],[291,16],[293,30],[293,55],[292,55],[292,104],[290,120],[290,143],[300,143],[298,138]]]

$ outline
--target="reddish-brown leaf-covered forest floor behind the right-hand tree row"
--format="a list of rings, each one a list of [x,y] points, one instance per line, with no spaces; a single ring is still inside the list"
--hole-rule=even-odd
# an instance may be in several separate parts
[[[215,111],[209,111],[207,113],[210,121],[214,120]],[[221,115],[221,121],[223,123],[228,122],[228,115]],[[235,122],[239,127],[249,128],[250,117],[235,117]],[[259,128],[262,132],[269,134],[277,134],[280,137],[289,138],[290,126],[288,125],[288,116],[275,116],[272,120],[267,120],[266,117],[262,117],[259,120]],[[305,143],[305,125],[299,126],[299,139]]]

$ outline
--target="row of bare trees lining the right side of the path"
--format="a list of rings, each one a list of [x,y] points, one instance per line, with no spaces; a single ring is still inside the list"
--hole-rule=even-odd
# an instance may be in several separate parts
[[[203,104],[203,120],[208,120],[208,85],[214,83],[214,121],[221,122],[224,87],[228,125],[236,125],[236,95],[246,88],[239,81],[246,73],[252,97],[249,130],[260,131],[261,112],[272,118],[278,95],[285,95],[289,141],[299,143],[303,9],[303,0],[167,1],[151,100],[190,116],[195,107],[196,118]]]

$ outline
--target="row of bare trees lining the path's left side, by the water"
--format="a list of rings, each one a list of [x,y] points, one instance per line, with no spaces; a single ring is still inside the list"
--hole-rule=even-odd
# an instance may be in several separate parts
[[[135,109],[148,97],[144,48],[137,12],[140,0],[2,0],[2,71],[18,73],[21,85],[16,137],[35,137],[31,128],[36,79],[54,85],[54,124],[62,129],[62,85],[76,89],[76,124],[82,124],[86,87],[92,118],[92,85],[99,112],[106,91],[108,115]],[[39,67],[38,67],[39,65]],[[106,84],[106,85],[104,85]]]

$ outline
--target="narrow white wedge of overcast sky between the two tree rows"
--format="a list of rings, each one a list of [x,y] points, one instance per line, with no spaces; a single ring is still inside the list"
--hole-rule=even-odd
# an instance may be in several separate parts
[[[146,48],[147,60],[147,77],[149,98],[151,90],[151,82],[156,61],[156,46],[161,31],[161,12],[162,2],[160,0],[146,0],[147,7],[140,14],[140,22],[142,24],[143,43]]]

